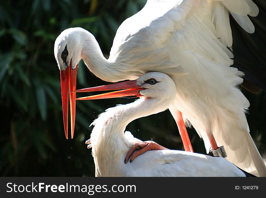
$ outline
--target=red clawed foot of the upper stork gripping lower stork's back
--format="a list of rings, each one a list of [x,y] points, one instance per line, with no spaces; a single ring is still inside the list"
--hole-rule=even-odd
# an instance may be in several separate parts
[[[139,151],[135,152],[135,150]],[[128,151],[128,154],[125,159],[125,164],[128,162],[130,156],[130,162],[132,162],[137,156],[143,154],[146,151],[154,151],[154,150],[168,150],[167,148],[164,148],[163,146],[157,144],[153,141],[145,141],[145,142],[138,142],[135,143],[131,149]],[[135,152],[135,153],[134,153]],[[134,153],[134,154],[133,154]],[[133,154],[133,155],[132,155]]]

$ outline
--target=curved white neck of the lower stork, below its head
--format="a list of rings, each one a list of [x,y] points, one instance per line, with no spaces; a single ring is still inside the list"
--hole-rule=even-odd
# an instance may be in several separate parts
[[[96,175],[110,176],[108,169],[116,166],[131,148],[135,139],[124,134],[133,120],[164,111],[168,102],[141,98],[127,105],[119,105],[102,113],[95,121],[91,134],[92,156]],[[119,167],[119,166],[118,166]]]

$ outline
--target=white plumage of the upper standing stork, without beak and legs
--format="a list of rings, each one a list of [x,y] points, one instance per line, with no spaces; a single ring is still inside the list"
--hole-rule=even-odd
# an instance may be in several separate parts
[[[242,72],[229,67],[233,54],[229,13],[249,33],[254,26],[247,15],[256,16],[251,0],[149,0],[137,14],[118,28],[110,57],[106,60],[94,36],[82,28],[64,30],[55,42],[60,60],[67,45],[75,68],[83,59],[90,71],[105,81],[135,80],[149,71],[168,74],[177,94],[170,111],[177,111],[203,138],[206,151],[213,134],[224,146],[227,159],[245,171],[266,176],[265,164],[248,130],[246,97],[237,88]]]

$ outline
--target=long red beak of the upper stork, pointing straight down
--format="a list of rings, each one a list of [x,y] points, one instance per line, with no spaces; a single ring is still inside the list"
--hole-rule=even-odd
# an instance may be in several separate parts
[[[64,71],[60,71],[63,120],[66,139],[68,139],[68,93],[70,95],[71,138],[73,138],[74,136],[76,117],[76,93],[73,91],[76,90],[77,68],[78,65],[76,65],[75,69],[72,69],[70,62],[70,65]]]

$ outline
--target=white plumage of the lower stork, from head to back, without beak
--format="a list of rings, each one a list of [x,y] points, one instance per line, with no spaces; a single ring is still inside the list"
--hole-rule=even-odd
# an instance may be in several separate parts
[[[158,83],[144,81],[154,78]],[[159,150],[148,151],[132,163],[124,163],[128,150],[140,140],[125,127],[129,122],[167,109],[175,99],[175,83],[166,74],[150,72],[137,80],[146,90],[133,103],[109,108],[92,124],[92,156],[95,175],[100,177],[245,177],[231,162],[198,153]]]

